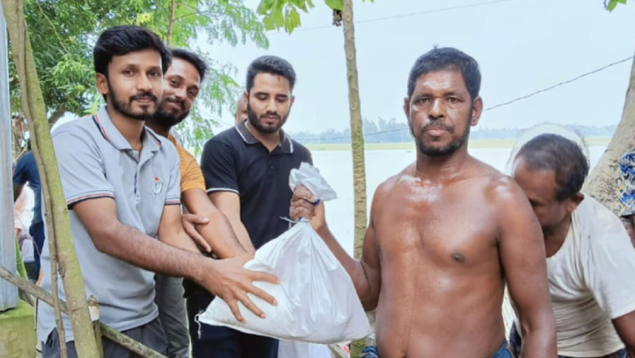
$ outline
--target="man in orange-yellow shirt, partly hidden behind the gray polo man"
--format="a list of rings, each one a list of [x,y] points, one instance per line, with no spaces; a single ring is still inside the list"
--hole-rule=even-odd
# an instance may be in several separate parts
[[[145,124],[159,135],[167,137],[177,148],[180,159],[181,202],[190,214],[190,223],[184,227],[196,242],[204,245],[203,251],[218,258],[231,258],[247,254],[234,234],[227,218],[218,210],[205,191],[201,168],[192,154],[185,150],[170,128],[184,120],[201,90],[206,65],[196,54],[187,50],[172,50],[172,63],[164,76],[163,98],[154,118]],[[192,226],[196,225],[196,229]],[[170,358],[189,357],[189,334],[185,313],[183,279],[156,276],[156,303],[159,319],[168,336]],[[192,327],[194,326],[194,327]],[[196,326],[190,322],[190,330]]]

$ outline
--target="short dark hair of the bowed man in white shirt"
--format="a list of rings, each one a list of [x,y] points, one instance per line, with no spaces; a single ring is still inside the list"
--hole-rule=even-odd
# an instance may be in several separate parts
[[[516,159],[521,157],[530,170],[556,172],[556,200],[559,202],[578,193],[589,174],[589,161],[582,153],[582,148],[562,135],[538,135],[521,147]]]

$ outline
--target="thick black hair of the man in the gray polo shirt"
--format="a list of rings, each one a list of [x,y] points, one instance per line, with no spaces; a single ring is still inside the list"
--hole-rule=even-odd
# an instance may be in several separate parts
[[[108,64],[113,56],[122,56],[141,50],[156,50],[161,55],[161,70],[165,74],[172,55],[161,38],[144,27],[122,25],[110,27],[99,35],[93,49],[95,72],[108,77]]]

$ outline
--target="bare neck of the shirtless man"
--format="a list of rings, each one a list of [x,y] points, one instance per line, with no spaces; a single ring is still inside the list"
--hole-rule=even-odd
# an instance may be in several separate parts
[[[422,179],[446,181],[460,176],[469,158],[465,144],[453,153],[442,156],[425,155],[417,149],[416,169]]]

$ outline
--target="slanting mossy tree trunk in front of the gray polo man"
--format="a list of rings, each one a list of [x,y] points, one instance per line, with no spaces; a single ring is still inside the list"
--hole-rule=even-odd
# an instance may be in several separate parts
[[[25,29],[22,0],[2,0],[4,17],[13,45],[13,58],[20,79],[22,111],[29,120],[31,146],[36,157],[37,169],[43,190],[48,240],[55,240],[59,259],[59,272],[64,282],[69,317],[79,357],[97,358],[97,343],[93,335],[92,322],[79,262],[72,244],[69,216],[64,190],[57,169],[57,160],[46,120],[46,107],[39,86],[36,65],[33,59],[29,34]],[[51,273],[57,275],[57,272]]]

